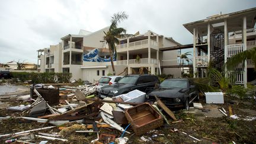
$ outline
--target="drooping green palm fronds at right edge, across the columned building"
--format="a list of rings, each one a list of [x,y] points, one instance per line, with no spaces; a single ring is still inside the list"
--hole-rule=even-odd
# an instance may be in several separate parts
[[[242,66],[244,68],[244,62],[247,59],[251,59],[252,63],[254,63],[254,69],[256,69],[256,47],[245,50],[244,52],[238,53],[229,58],[226,62],[227,69],[235,69],[236,66],[238,66],[240,63],[242,63]]]

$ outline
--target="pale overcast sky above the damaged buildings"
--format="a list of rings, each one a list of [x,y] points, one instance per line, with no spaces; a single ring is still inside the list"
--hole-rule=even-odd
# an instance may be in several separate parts
[[[37,63],[36,50],[57,44],[60,37],[80,29],[97,31],[110,25],[110,17],[125,11],[129,18],[119,24],[127,33],[136,31],[172,37],[192,43],[183,24],[211,15],[256,7],[255,0],[8,0],[0,5],[0,63],[11,60]]]

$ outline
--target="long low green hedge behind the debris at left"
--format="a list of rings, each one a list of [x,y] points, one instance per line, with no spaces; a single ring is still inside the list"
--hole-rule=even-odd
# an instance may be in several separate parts
[[[33,84],[38,83],[56,83],[56,82],[69,82],[72,77],[72,73],[54,73],[54,72],[11,72],[11,75],[15,79],[20,79],[21,82],[31,80]]]

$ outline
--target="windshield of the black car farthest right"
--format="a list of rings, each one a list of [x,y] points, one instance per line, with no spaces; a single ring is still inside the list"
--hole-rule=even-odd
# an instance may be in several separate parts
[[[160,84],[161,88],[187,88],[187,81],[165,80]]]

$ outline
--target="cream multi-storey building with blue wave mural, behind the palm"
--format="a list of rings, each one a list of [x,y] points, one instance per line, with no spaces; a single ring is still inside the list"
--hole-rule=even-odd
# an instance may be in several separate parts
[[[68,34],[61,38],[61,42],[55,46],[38,50],[40,72],[70,72],[73,79],[95,82],[113,73],[109,62],[108,46],[105,43],[104,31],[109,27],[91,33],[81,30],[79,34]],[[159,48],[177,46],[176,41],[148,31],[145,34],[121,39],[116,46],[116,60],[114,66],[116,74],[127,69],[128,74],[138,73],[141,67],[145,73],[158,74],[165,57],[177,59],[177,51],[160,52]],[[174,62],[177,65],[177,60]],[[181,69],[174,68],[166,74],[175,77],[181,76]]]

